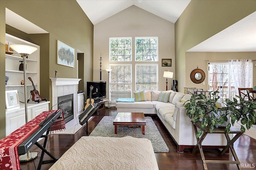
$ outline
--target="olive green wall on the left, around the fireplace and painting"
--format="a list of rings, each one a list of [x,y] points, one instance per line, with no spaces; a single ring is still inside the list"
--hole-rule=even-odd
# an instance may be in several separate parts
[[[57,64],[57,40],[84,52],[82,82],[92,81],[93,71],[93,24],[80,8],[76,0],[0,0],[0,79],[5,76],[5,8],[15,12],[48,34],[27,35],[12,30],[20,38],[40,45],[40,95],[52,100],[51,81],[55,70],[57,78],[77,78],[77,56],[75,67]],[[12,28],[10,28],[11,30]],[[16,32],[16,33],[15,33]],[[14,36],[15,36],[14,35]],[[81,82],[80,81],[80,82]],[[83,87],[86,88],[86,87]],[[84,89],[80,89],[84,90]],[[5,84],[0,82],[0,139],[5,137]],[[51,104],[50,104],[51,106]]]

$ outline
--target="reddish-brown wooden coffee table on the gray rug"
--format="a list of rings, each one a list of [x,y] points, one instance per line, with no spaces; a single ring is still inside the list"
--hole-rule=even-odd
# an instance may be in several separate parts
[[[115,134],[117,134],[117,125],[137,125],[142,126],[142,135],[145,135],[145,117],[144,113],[130,113],[120,112],[117,113],[113,125],[115,126]]]

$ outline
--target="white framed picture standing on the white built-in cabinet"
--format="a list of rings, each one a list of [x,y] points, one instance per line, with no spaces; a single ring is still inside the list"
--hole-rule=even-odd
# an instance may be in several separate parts
[[[19,107],[19,96],[18,90],[7,90],[5,91],[5,102],[6,102],[6,109],[10,109],[12,107]]]

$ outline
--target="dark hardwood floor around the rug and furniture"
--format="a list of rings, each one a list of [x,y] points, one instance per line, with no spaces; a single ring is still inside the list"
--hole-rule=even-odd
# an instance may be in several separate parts
[[[92,132],[94,127],[100,122],[105,115],[115,116],[116,109],[106,109],[99,112],[99,115],[94,115],[94,119],[88,123],[88,132]],[[158,167],[160,170],[202,170],[202,160],[199,151],[196,154],[192,154],[192,150],[184,150],[184,153],[177,152],[177,146],[169,135],[168,131],[162,125],[161,121],[152,116],[154,123],[158,127],[164,141],[166,142],[169,152],[168,153],[155,153]],[[114,132],[113,132],[114,133]],[[52,134],[47,144],[47,150],[53,154],[56,158],[60,158],[66,150],[68,150],[80,137],[86,135],[86,127],[81,129],[76,135],[64,135],[64,134]],[[42,144],[43,140],[40,141]],[[242,135],[235,143],[234,149],[241,162],[243,170],[256,169],[256,139],[250,138],[246,135]],[[30,149],[31,151],[41,151],[35,145]],[[234,160],[232,153],[220,155],[217,149],[204,149],[204,155],[206,159],[210,160]],[[38,166],[40,154],[34,160],[21,163],[22,170],[35,170]],[[44,159],[50,159],[45,154]],[[42,164],[41,170],[48,170],[54,163]],[[236,164],[207,164],[209,170],[237,170]]]

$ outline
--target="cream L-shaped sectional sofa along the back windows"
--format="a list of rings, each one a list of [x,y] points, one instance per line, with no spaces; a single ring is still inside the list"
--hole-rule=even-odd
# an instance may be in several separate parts
[[[190,118],[186,115],[184,103],[180,101],[190,100],[190,94],[171,92],[167,103],[159,102],[160,91],[145,90],[146,100],[142,102],[117,102],[117,112],[143,112],[144,114],[156,114],[162,121],[175,143],[178,152],[183,152],[184,148],[193,148],[196,145],[194,127]],[[182,100],[181,100],[182,99]],[[226,146],[226,138],[223,134],[209,134],[204,139],[204,147],[223,148]]]

